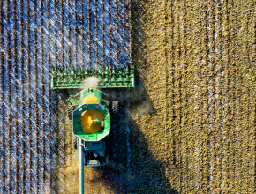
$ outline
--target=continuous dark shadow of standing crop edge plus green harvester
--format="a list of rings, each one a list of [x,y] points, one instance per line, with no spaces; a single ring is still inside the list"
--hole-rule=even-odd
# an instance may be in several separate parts
[[[135,65],[135,88],[109,92],[111,96],[118,97],[118,101],[121,101],[120,117],[118,126],[115,125],[117,141],[114,145],[110,145],[113,153],[110,154],[109,164],[102,167],[102,175],[99,176],[102,180],[99,181],[109,185],[114,193],[177,194],[177,190],[172,189],[169,177],[165,174],[168,164],[164,160],[156,159],[155,153],[149,150],[149,146],[152,145],[149,145],[143,132],[150,132],[150,129],[146,126],[142,129],[139,121],[134,120],[133,116],[138,114],[143,119],[148,116],[154,118],[157,114],[143,84],[144,74],[147,71],[150,73],[150,69],[147,55],[144,55],[147,52],[147,44],[144,41],[148,39],[144,32],[147,11],[141,9],[140,3],[132,0],[131,9],[131,59],[132,64]]]

